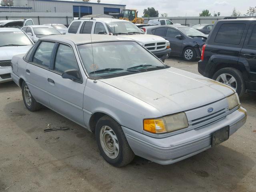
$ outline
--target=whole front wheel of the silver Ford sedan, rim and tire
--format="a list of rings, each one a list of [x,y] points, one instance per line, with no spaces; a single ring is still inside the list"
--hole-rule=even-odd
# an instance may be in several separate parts
[[[120,124],[110,116],[105,115],[98,120],[95,134],[100,153],[108,163],[122,167],[134,159]]]

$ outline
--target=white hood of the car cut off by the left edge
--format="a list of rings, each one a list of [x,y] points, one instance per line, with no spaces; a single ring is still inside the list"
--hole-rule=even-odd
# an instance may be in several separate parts
[[[28,52],[28,50],[32,46],[7,46],[0,47],[0,60],[11,60],[12,56],[18,54],[24,54]]]

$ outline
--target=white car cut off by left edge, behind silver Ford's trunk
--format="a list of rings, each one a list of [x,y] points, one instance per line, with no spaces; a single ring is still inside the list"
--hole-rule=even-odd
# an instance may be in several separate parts
[[[0,28],[0,83],[12,81],[12,56],[26,53],[34,44],[18,28]]]

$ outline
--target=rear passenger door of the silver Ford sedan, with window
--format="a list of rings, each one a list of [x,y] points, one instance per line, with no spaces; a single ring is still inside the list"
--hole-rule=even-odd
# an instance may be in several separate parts
[[[26,83],[37,102],[50,107],[48,74],[54,42],[40,42],[26,66]]]

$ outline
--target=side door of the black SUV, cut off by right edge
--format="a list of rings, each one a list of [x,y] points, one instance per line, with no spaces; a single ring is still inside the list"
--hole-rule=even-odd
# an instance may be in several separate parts
[[[246,67],[250,72],[246,84],[247,89],[256,90],[256,22],[250,25],[239,61],[248,64]]]

